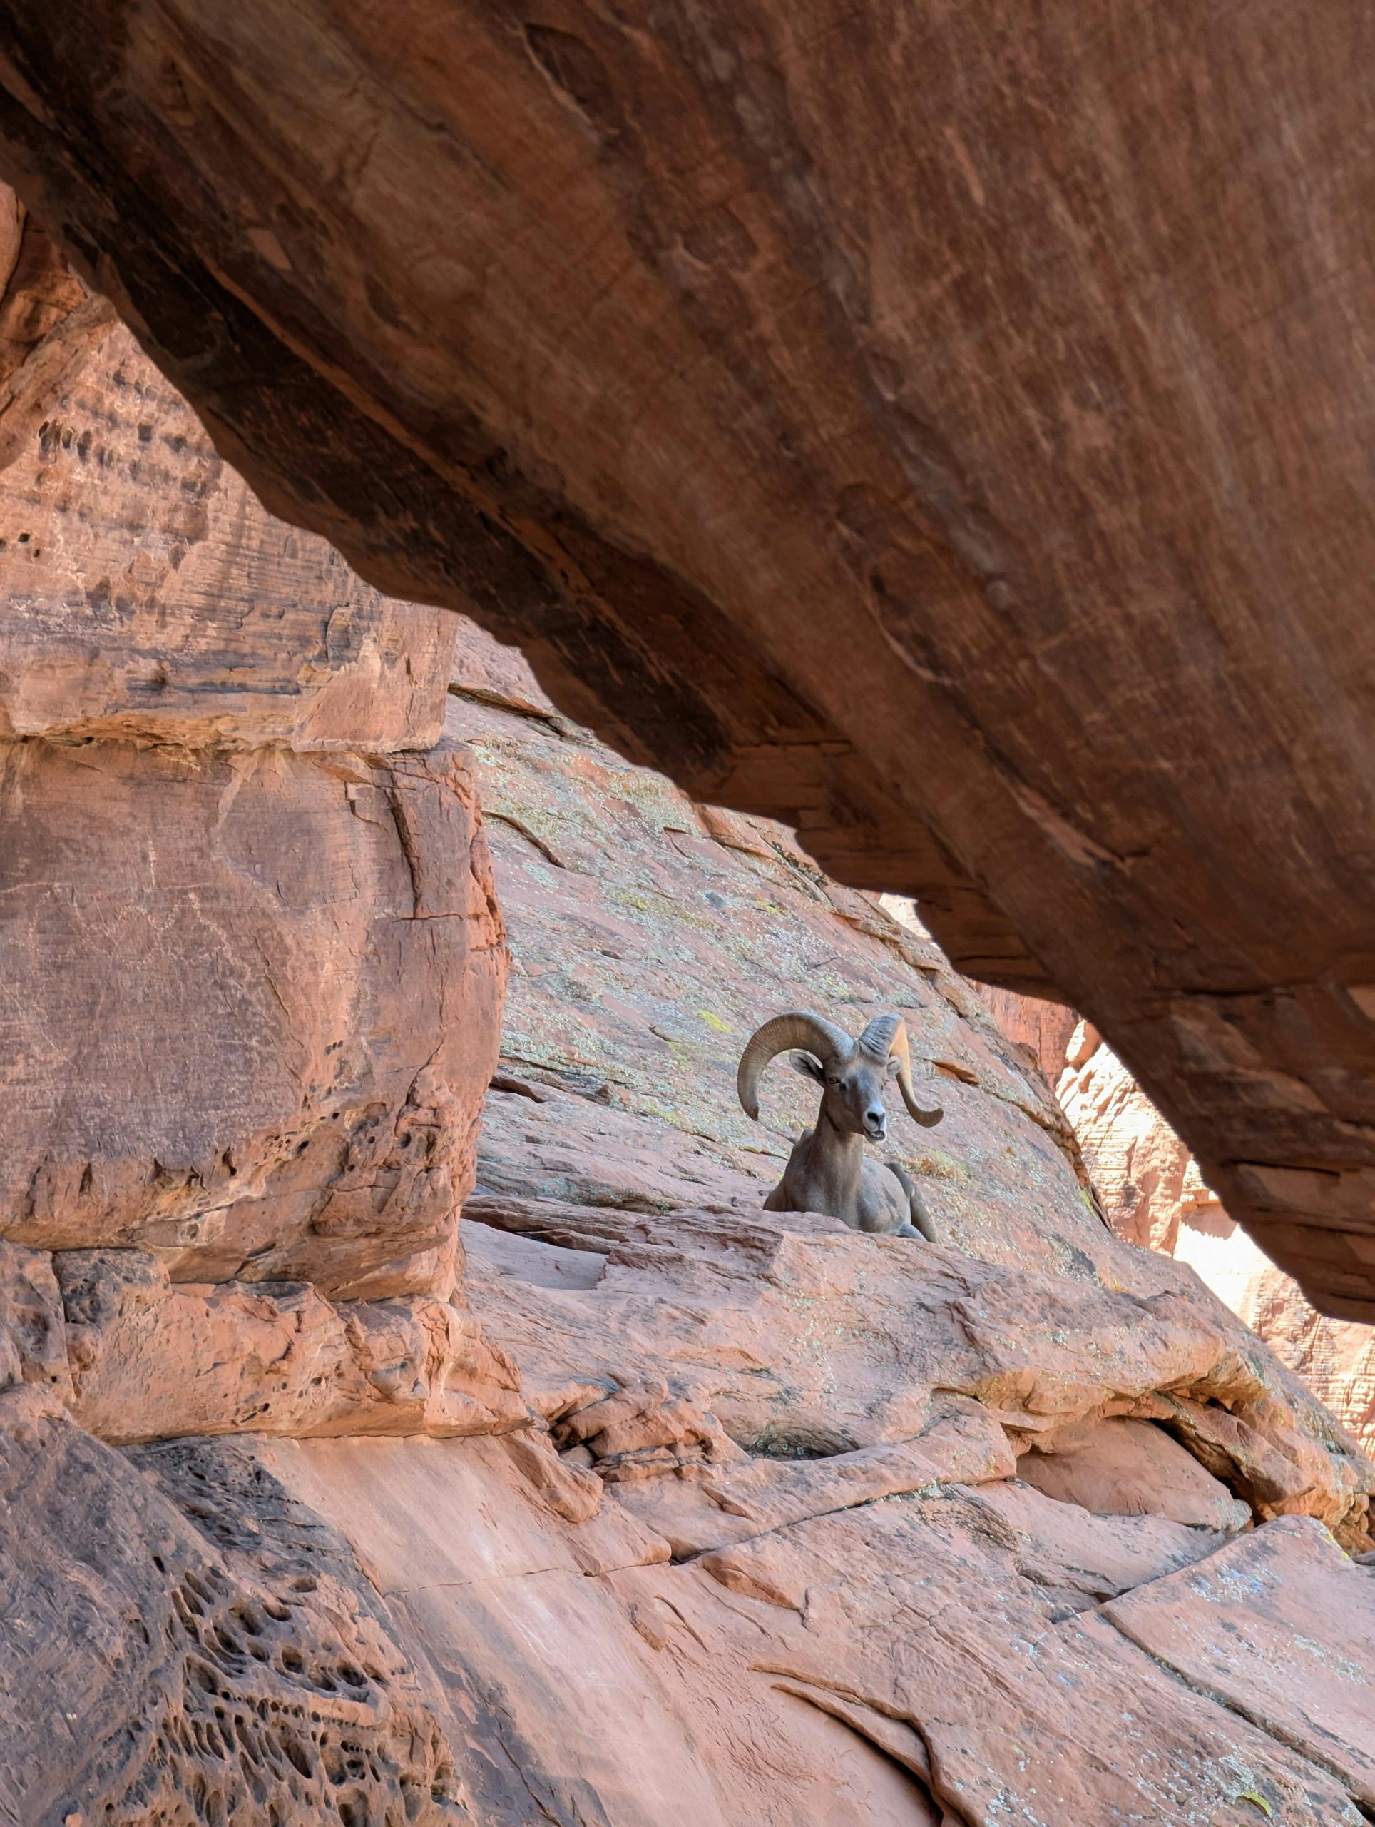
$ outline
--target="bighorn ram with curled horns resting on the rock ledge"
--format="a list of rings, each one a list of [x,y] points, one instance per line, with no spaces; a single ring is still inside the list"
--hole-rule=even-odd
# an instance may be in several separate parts
[[[807,1010],[774,1016],[740,1056],[736,1091],[747,1116],[760,1120],[760,1074],[780,1052],[822,1085],[816,1127],[807,1129],[763,1202],[765,1211],[824,1211],[856,1231],[926,1237],[935,1242],[922,1195],[893,1162],[866,1160],[864,1142],[887,1135],[884,1080],[897,1078],[908,1114],[924,1129],[944,1111],[924,1111],[911,1089],[911,1051],[902,1016],[875,1016],[858,1040]]]

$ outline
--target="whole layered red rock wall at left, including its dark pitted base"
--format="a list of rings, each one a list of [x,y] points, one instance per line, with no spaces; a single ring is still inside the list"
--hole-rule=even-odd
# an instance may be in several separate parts
[[[0,318],[0,1818],[471,1820],[352,1549],[206,1458],[530,1420],[460,1284],[506,950],[449,628],[272,521],[31,227]]]

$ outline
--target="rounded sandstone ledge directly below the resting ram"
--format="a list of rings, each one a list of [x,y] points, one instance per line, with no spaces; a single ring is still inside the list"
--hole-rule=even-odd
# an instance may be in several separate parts
[[[502,1239],[489,1268],[493,1226],[599,1253],[604,1268],[555,1286]],[[1108,1241],[1132,1270],[1128,1294],[906,1239],[856,1239],[798,1213],[646,1217],[486,1199],[467,1206],[464,1233],[473,1308],[520,1363],[530,1403],[557,1429],[615,1392],[652,1392],[665,1432],[625,1445],[641,1443],[645,1463],[674,1478],[732,1463],[703,1451],[703,1418],[765,1458],[829,1456],[918,1440],[935,1392],[957,1392],[1017,1451],[1110,1416],[1167,1421],[1258,1515],[1313,1515],[1364,1547],[1375,1467],[1163,1257]],[[676,1399],[687,1403],[677,1421]],[[645,1410],[637,1394],[628,1412]],[[621,1443],[608,1451],[619,1467]],[[1178,1515],[1181,1498],[1158,1496],[1156,1515]],[[1234,1527],[1236,1513],[1220,1505],[1211,1520]]]

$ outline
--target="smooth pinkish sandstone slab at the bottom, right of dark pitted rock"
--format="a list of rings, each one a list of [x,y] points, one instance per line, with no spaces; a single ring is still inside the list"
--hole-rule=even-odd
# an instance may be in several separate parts
[[[614,1827],[973,1827],[1015,1807],[1057,1827],[1114,1812],[1244,1827],[1247,1794],[1306,1827],[1359,1820],[1322,1763],[1096,1615],[1123,1577],[1163,1571],[1143,1538],[1130,1551],[1112,1535],[1149,1518],[951,1485],[687,1564],[652,1537],[626,1540],[588,1579],[502,1442],[257,1452],[354,1544],[405,1641],[442,1672],[440,1717],[462,1721],[489,1820],[528,1818],[530,1796],[577,1818],[595,1796]],[[1021,1491],[1021,1509],[981,1507],[999,1489]],[[1176,1531],[1176,1553],[1183,1537],[1216,1542],[1152,1526]],[[876,1776],[887,1759],[908,1772],[897,1789]]]

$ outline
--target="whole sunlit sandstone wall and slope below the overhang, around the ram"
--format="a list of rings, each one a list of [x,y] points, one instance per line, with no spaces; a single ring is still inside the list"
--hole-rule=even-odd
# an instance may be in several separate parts
[[[110,333],[0,471],[0,1822],[1359,1827],[1375,1467],[929,943],[183,413]],[[761,1211],[798,1001],[940,1242]]]

